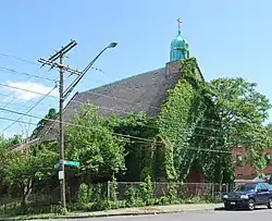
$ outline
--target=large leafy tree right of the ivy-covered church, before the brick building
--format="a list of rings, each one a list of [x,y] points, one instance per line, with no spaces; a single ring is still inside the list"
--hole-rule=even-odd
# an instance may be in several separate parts
[[[271,103],[256,90],[256,86],[242,77],[218,78],[208,84],[221,128],[231,142],[230,147],[242,140],[248,150],[249,162],[260,173],[265,165],[263,150],[268,145],[262,123],[269,116]]]

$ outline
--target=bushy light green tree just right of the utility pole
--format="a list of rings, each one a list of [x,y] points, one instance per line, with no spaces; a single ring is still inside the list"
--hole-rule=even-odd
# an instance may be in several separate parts
[[[92,106],[83,107],[65,127],[65,158],[81,162],[79,173],[88,183],[125,171],[124,145]]]

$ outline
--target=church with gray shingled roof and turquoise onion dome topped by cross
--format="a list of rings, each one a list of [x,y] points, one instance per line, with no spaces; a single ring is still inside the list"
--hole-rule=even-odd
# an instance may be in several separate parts
[[[178,19],[177,21],[177,35],[171,41],[170,58],[165,65],[97,88],[75,93],[64,108],[64,122],[70,122],[76,116],[84,103],[95,105],[98,108],[98,113],[103,116],[112,114],[124,115],[143,111],[150,116],[158,115],[162,102],[168,99],[169,89],[174,88],[181,77],[183,77],[181,76],[183,59],[190,58],[188,42],[182,36],[181,20]],[[195,74],[198,78],[203,79],[198,64],[196,64]],[[59,123],[48,122],[41,134],[44,140],[57,139]],[[34,143],[35,140],[33,140]],[[16,149],[25,148],[23,146],[21,145]],[[236,159],[235,152],[233,158]],[[235,174],[237,175],[237,172]],[[199,171],[190,171],[187,182],[199,183],[205,181]]]

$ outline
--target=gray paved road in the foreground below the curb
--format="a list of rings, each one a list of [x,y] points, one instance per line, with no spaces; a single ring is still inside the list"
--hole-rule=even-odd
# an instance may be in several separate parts
[[[272,210],[258,209],[255,211],[202,211],[202,212],[184,212],[171,214],[154,216],[136,216],[136,217],[109,217],[109,218],[90,218],[75,219],[73,221],[271,221]],[[62,221],[62,219],[58,219]],[[63,220],[64,221],[64,220]]]

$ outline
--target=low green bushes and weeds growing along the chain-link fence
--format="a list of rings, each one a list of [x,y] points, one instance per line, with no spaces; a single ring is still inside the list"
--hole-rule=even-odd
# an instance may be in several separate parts
[[[153,182],[107,182],[82,184],[76,195],[66,186],[70,211],[95,211],[150,205],[194,204],[221,200],[232,188],[228,184],[212,183],[162,183]],[[73,191],[74,192],[74,191]],[[60,210],[60,189],[51,186],[35,187],[28,199],[27,211],[20,210],[20,198],[14,194],[0,196],[0,213],[41,213]]]

